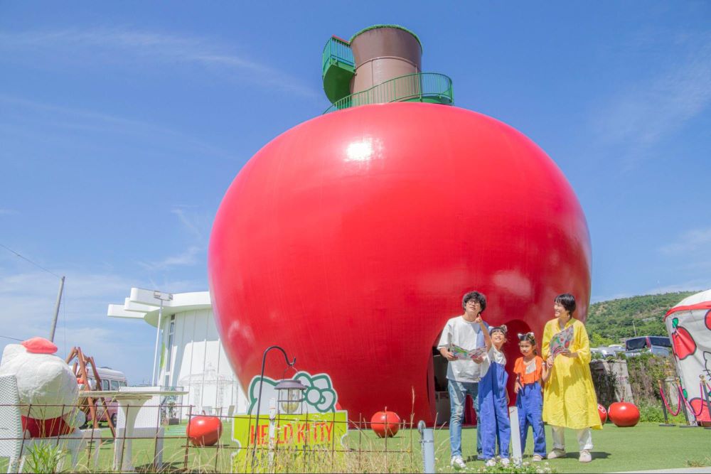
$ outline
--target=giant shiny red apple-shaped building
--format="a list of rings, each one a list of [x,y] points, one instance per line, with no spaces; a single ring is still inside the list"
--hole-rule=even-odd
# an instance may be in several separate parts
[[[420,103],[346,109],[272,140],[230,185],[208,255],[243,386],[278,344],[331,375],[352,419],[388,406],[428,423],[432,346],[466,291],[486,294],[488,323],[540,337],[558,293],[584,320],[589,271],[582,209],[533,141]],[[513,365],[518,348],[506,351]],[[283,372],[270,355],[267,374]]]

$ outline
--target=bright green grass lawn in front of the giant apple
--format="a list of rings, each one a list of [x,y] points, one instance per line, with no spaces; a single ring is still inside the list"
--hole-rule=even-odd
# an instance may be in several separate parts
[[[106,430],[108,431],[108,430]],[[546,430],[550,442],[550,430]],[[105,435],[108,436],[108,433]],[[168,438],[164,441],[164,462],[166,470],[182,470],[186,456],[186,438]],[[184,436],[184,435],[183,435]],[[411,472],[422,471],[422,452],[419,448],[417,431],[401,430],[395,438],[387,440],[388,451],[399,453],[368,453],[365,451],[383,451],[385,440],[377,438],[370,431],[351,430],[348,436],[349,446],[361,453],[346,453],[341,459],[321,456],[319,459],[304,463],[298,460],[289,465],[289,470],[299,472],[333,472],[349,470],[351,472]],[[230,439],[230,429],[225,423],[220,448],[188,449],[188,470],[193,472],[226,472],[230,469],[230,454],[236,444]],[[663,428],[656,423],[642,423],[634,428],[617,428],[606,424],[602,431],[593,431],[592,463],[579,463],[577,460],[577,441],[575,433],[568,430],[566,446],[568,456],[547,461],[560,473],[614,472],[626,470],[651,470],[665,468],[688,468],[690,465],[711,465],[711,430],[701,428],[680,429]],[[532,440],[526,453],[532,450]],[[71,467],[74,472],[108,471],[112,468],[113,442],[103,443],[100,448],[100,463],[94,468],[87,463],[87,453],[80,456],[79,463]],[[412,450],[410,450],[412,446]],[[483,467],[483,462],[474,460],[476,451],[476,429],[464,429],[462,433],[464,457],[471,456],[467,462],[469,471]],[[550,449],[550,447],[549,447]],[[154,452],[153,440],[134,440],[133,461],[137,470],[151,469],[150,460]],[[449,468],[449,431],[438,429],[435,432],[435,457],[437,472],[452,472]],[[530,455],[525,456],[525,458]],[[69,470],[69,463],[65,470]],[[0,462],[0,468],[6,469],[6,463]],[[249,469],[247,469],[249,470]]]

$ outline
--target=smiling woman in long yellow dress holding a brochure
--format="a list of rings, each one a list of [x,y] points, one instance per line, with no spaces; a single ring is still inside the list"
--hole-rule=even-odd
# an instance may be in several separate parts
[[[597,412],[597,396],[590,374],[590,342],[585,325],[573,317],[575,298],[570,293],[559,295],[553,305],[555,319],[543,329],[542,355],[551,368],[550,378],[543,389],[543,421],[553,434],[553,451],[548,459],[565,456],[565,428],[577,431],[580,462],[592,460],[592,432],[602,429]],[[550,353],[550,339],[565,328],[573,327],[570,348],[557,355]]]

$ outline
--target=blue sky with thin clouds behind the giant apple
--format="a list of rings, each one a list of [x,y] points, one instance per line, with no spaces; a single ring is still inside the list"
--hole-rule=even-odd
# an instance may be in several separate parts
[[[207,289],[232,178],[329,105],[326,40],[397,23],[457,106],[523,131],[565,173],[594,301],[707,289],[709,18],[707,1],[4,1],[0,244],[67,276],[60,352],[147,380],[154,333],[107,305],[132,286]],[[47,335],[58,283],[0,248],[0,335]]]

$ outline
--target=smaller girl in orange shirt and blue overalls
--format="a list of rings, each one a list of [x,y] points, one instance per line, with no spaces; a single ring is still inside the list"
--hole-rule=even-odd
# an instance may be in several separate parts
[[[545,431],[543,431],[543,395],[542,384],[550,375],[544,360],[535,350],[533,333],[518,335],[518,348],[523,357],[518,357],[513,365],[518,408],[518,425],[521,431],[521,451],[526,448],[528,427],[533,428],[533,460],[545,458]]]

